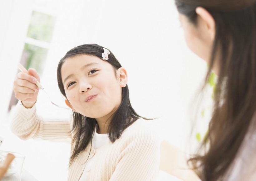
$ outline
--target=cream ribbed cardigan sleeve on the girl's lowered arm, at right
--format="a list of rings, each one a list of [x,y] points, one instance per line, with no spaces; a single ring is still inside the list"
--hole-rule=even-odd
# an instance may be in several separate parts
[[[155,131],[140,128],[130,132],[124,138],[121,150],[110,181],[157,179],[160,164],[160,139]]]

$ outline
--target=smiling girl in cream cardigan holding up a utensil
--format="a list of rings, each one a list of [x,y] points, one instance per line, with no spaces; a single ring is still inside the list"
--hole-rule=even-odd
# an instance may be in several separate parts
[[[104,51],[105,50],[105,51]],[[57,80],[71,120],[43,120],[35,102],[36,70],[14,81],[17,110],[12,131],[21,139],[71,141],[68,180],[155,180],[160,143],[155,131],[132,108],[126,69],[107,49],[77,46],[57,67]]]

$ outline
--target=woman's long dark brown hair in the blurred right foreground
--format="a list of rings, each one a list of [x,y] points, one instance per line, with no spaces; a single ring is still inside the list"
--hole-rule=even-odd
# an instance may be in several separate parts
[[[175,0],[175,4],[194,26],[196,7],[204,7],[215,20],[215,39],[203,88],[214,64],[219,68],[218,80],[209,130],[199,147],[207,148],[209,140],[209,149],[188,162],[201,180],[223,180],[245,136],[251,133],[249,126],[256,126],[256,1]]]

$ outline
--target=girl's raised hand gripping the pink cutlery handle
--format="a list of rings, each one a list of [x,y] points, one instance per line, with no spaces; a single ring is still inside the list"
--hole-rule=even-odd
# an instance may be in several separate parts
[[[40,82],[36,69],[28,69],[28,73],[20,72],[14,80],[15,97],[22,101],[26,108],[31,108],[37,101],[39,87],[35,84]]]

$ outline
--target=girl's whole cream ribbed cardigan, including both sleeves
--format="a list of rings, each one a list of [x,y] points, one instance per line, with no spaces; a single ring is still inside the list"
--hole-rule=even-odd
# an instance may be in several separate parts
[[[71,120],[44,120],[36,113],[36,106],[25,108],[19,101],[11,123],[11,130],[22,140],[29,138],[69,141]],[[71,152],[73,146],[71,146]],[[148,181],[156,180],[160,164],[160,138],[146,126],[146,120],[139,119],[126,128],[121,138],[114,143],[94,150],[90,147],[80,152],[69,168],[68,181],[78,181],[91,157],[86,180],[93,181]],[[87,160],[89,156],[89,159]],[[87,160],[87,161],[86,161]]]

